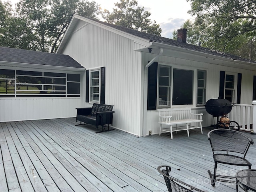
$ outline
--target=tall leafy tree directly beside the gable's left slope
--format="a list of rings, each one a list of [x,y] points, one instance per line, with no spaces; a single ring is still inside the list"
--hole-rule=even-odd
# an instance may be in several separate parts
[[[100,7],[85,0],[20,0],[16,12],[34,35],[32,49],[55,52],[72,15],[96,18]]]

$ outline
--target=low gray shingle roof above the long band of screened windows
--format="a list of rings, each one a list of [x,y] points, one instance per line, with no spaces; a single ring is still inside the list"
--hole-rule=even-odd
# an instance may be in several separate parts
[[[0,61],[37,64],[47,66],[60,66],[84,68],[68,55],[15,49],[0,46]]]

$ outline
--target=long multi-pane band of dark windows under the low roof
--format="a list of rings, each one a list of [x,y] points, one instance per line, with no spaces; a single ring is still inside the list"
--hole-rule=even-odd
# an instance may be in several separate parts
[[[0,82],[1,97],[80,96],[80,74],[0,69]]]

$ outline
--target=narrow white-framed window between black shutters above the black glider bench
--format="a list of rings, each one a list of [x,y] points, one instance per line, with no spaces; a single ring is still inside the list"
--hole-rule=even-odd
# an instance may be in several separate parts
[[[90,102],[99,102],[100,70],[90,71]]]

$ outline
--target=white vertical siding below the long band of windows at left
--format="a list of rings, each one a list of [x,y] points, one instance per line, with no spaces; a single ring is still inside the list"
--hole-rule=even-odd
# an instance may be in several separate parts
[[[76,116],[80,98],[0,99],[0,122]]]

